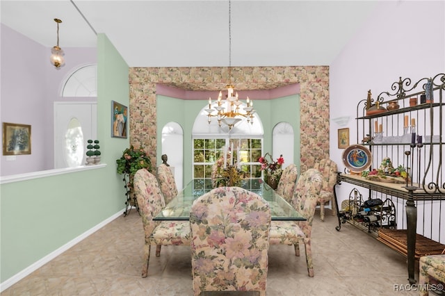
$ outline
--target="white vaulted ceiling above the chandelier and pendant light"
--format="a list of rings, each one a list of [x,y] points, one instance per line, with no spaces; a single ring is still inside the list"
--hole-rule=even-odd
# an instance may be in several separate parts
[[[377,3],[232,0],[231,65],[330,65]],[[3,24],[45,47],[56,45],[58,18],[60,47],[96,47],[105,33],[129,67],[229,65],[229,1],[0,4]]]

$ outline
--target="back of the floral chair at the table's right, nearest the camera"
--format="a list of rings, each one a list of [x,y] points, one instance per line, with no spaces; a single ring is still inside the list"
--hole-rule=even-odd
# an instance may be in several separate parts
[[[315,208],[322,185],[323,175],[321,172],[309,169],[300,175],[293,191],[291,204],[307,219],[305,223],[299,223],[299,225],[308,237],[311,235],[312,221],[314,220]]]

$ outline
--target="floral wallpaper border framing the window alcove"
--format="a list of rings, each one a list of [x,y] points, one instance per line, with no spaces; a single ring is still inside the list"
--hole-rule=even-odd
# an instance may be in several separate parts
[[[156,163],[156,83],[186,90],[223,90],[227,67],[133,67],[129,69],[130,144],[144,147]],[[329,157],[329,67],[232,67],[237,90],[266,90],[300,83],[301,171]]]

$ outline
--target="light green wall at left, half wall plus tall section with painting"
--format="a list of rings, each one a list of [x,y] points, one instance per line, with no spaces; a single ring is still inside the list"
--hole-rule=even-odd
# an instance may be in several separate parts
[[[129,67],[103,34],[97,58],[97,138],[107,165],[1,185],[1,283],[124,208],[115,159],[129,139],[111,138],[111,100],[128,106]]]

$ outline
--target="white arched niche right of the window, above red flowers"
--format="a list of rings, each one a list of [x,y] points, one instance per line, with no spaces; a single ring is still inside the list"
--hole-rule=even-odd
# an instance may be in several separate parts
[[[291,124],[280,122],[275,125],[272,132],[272,157],[277,159],[282,154],[284,158],[283,167],[293,163],[294,142],[295,136]]]

